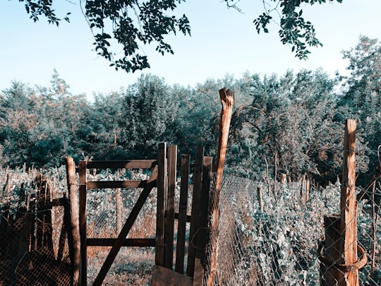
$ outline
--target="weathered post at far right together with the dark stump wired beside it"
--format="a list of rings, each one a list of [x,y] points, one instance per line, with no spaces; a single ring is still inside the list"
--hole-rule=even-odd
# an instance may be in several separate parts
[[[326,251],[320,256],[325,273],[322,285],[358,286],[358,269],[366,263],[365,251],[357,245],[356,120],[347,119],[344,133],[344,165],[341,181],[340,217],[325,218]],[[339,228],[339,232],[337,229]],[[329,247],[332,249],[329,251]],[[358,251],[361,258],[358,260]],[[324,284],[324,281],[327,284]]]

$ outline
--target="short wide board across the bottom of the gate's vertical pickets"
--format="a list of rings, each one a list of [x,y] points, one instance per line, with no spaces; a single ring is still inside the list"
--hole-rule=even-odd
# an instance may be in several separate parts
[[[154,266],[151,286],[192,286],[193,279],[168,268]]]

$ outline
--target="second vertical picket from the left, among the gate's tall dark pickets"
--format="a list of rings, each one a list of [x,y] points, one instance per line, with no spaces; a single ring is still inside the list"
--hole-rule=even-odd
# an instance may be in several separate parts
[[[174,264],[174,196],[176,186],[177,146],[168,147],[168,193],[167,217],[165,218],[164,267],[172,269]]]

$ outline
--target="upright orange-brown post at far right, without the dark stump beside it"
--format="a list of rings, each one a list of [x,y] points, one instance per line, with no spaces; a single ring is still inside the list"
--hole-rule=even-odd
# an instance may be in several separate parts
[[[357,261],[356,126],[355,119],[346,119],[340,230],[344,238],[344,245],[341,248],[342,257],[344,258],[343,262],[347,265]],[[343,283],[343,285],[358,285],[358,270],[355,269],[346,273],[345,282],[346,284]]]

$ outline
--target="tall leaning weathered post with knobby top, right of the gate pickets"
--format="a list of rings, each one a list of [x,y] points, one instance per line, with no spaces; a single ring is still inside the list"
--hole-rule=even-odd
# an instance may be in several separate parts
[[[212,254],[210,257],[210,274],[207,279],[208,286],[212,286],[214,284],[214,280],[217,275],[219,192],[221,191],[222,174],[224,171],[226,146],[229,138],[231,114],[233,113],[234,92],[233,90],[226,90],[226,88],[222,88],[221,90],[219,90],[219,97],[221,99],[222,110],[221,118],[219,121],[219,143],[217,162],[214,167],[214,172],[217,173],[217,177],[215,183],[214,198],[212,200],[211,205],[212,223],[210,227],[210,247],[212,248]]]

